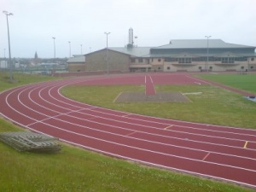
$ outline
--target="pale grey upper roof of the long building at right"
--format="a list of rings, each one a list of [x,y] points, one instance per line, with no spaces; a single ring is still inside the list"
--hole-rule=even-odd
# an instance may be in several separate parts
[[[254,48],[253,46],[241,44],[225,43],[221,39],[209,39],[208,47],[211,49],[225,48]],[[175,39],[171,40],[170,44],[162,45],[152,49],[205,49],[207,48],[207,39]]]

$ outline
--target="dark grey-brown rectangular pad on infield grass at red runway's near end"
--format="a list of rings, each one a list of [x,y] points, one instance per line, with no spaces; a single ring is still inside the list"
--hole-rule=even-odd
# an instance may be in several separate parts
[[[146,95],[143,92],[121,92],[113,102],[190,102],[180,92],[162,92]]]

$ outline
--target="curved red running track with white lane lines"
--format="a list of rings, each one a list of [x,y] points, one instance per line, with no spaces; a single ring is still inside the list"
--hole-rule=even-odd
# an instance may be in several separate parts
[[[0,94],[0,113],[18,125],[149,166],[256,188],[256,131],[159,119],[74,102],[68,84],[206,84],[187,74],[152,73],[29,84]]]

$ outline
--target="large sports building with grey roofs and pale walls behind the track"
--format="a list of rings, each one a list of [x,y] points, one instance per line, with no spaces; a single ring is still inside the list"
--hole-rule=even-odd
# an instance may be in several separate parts
[[[85,55],[85,71],[198,72],[256,70],[253,46],[221,39],[171,40],[160,47],[126,46]]]

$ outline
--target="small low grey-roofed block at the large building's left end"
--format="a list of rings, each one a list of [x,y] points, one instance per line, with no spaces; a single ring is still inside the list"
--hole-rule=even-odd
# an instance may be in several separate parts
[[[73,55],[73,57],[67,60],[68,72],[84,72],[86,71],[85,56]]]

